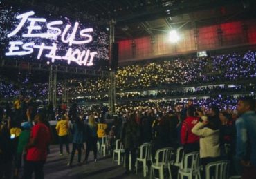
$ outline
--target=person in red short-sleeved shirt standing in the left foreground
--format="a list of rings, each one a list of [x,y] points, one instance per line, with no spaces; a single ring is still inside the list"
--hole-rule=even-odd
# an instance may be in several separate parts
[[[47,147],[51,141],[49,128],[44,124],[42,114],[37,114],[34,118],[35,126],[31,129],[30,140],[28,142],[26,163],[24,166],[24,179],[44,178],[44,163],[47,158]]]

